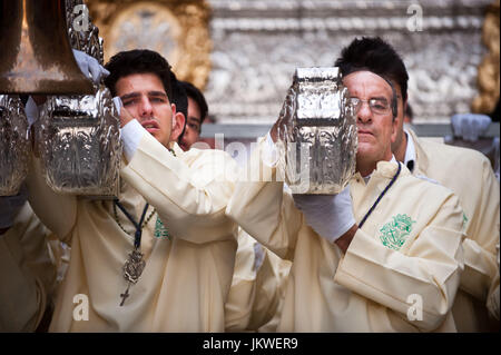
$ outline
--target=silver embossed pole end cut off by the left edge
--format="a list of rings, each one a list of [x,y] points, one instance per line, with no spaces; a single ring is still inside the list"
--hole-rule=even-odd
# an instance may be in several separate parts
[[[18,96],[0,95],[0,196],[16,195],[24,181],[31,145]]]

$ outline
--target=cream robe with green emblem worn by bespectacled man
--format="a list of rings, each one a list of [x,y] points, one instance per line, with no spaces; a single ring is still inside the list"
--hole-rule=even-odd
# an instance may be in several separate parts
[[[264,176],[276,175],[275,168],[261,169]],[[367,185],[360,174],[351,180],[357,221],[395,171],[395,164],[380,161]],[[305,224],[282,183],[238,183],[226,213],[279,257],[293,260],[279,332],[455,331],[450,309],[463,267],[464,235],[462,209],[449,189],[403,167],[346,255]],[[407,235],[392,227],[395,218],[396,227],[402,219],[411,221]],[[400,250],[383,245],[392,231],[406,240]],[[410,321],[416,297],[422,317]]]

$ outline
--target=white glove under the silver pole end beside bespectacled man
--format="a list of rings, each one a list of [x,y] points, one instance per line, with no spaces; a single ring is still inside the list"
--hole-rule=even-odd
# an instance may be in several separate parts
[[[337,195],[293,195],[306,224],[331,243],[337,240],[354,224],[350,185]]]

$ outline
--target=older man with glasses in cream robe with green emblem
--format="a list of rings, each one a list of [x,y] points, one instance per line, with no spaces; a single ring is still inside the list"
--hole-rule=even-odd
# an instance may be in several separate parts
[[[357,172],[334,196],[291,196],[278,181],[238,183],[226,213],[279,257],[293,260],[278,332],[455,332],[451,307],[463,268],[462,209],[446,188],[395,177],[396,95],[370,71],[344,78],[357,98]],[[287,99],[281,116],[287,109]],[[377,111],[377,112],[376,112]],[[277,177],[276,128],[252,162]],[[256,168],[256,166],[253,166]],[[296,206],[298,208],[296,208]],[[301,208],[301,210],[299,210]]]

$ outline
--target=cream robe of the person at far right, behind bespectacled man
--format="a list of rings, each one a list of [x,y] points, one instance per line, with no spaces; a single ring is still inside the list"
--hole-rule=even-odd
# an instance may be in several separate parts
[[[416,152],[413,174],[424,175],[453,190],[466,218],[464,273],[452,307],[458,331],[489,331],[485,305],[490,297],[499,297],[499,183],[489,159],[481,152],[421,139],[413,131],[410,134]],[[497,313],[499,319],[499,309],[491,312]]]

